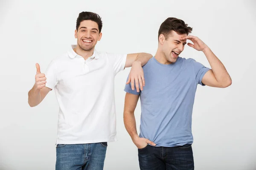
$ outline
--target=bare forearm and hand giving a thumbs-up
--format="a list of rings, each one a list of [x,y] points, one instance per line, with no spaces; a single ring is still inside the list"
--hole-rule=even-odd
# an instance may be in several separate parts
[[[39,64],[36,64],[36,68],[35,85],[28,94],[28,103],[30,107],[37,106],[41,103],[44,97],[51,91],[50,88],[45,87],[46,77],[45,74],[41,73]]]

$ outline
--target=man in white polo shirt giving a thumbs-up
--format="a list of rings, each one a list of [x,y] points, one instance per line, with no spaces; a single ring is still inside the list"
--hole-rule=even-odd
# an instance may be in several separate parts
[[[94,50],[102,37],[98,14],[81,12],[76,21],[77,45],[52,60],[45,74],[36,64],[31,107],[55,89],[59,104],[56,170],[102,170],[107,142],[116,141],[114,77],[131,67],[127,83],[143,90],[142,66],[151,54],[111,54]]]

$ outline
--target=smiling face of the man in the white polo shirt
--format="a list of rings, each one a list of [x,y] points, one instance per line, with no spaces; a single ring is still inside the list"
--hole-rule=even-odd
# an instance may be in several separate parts
[[[99,26],[96,22],[84,20],[75,31],[75,37],[79,48],[84,51],[91,51],[101,39],[102,33],[99,32]]]

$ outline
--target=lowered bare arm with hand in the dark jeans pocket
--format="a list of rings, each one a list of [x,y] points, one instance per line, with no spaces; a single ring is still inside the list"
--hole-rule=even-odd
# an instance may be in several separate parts
[[[131,136],[132,141],[137,146],[138,149],[146,147],[147,144],[155,146],[154,142],[151,142],[148,139],[140,138],[136,129],[136,121],[134,116],[134,111],[137,106],[140,95],[129,94],[125,95],[125,107],[124,107],[124,124],[125,129]]]

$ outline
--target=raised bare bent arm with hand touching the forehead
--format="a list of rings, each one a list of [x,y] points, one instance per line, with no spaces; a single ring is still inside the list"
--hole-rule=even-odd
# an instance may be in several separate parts
[[[218,87],[218,88],[226,88],[232,84],[232,80],[230,75],[228,74],[225,66],[222,62],[218,59],[218,57],[213,54],[211,49],[198,37],[194,36],[186,36],[183,37],[182,40],[191,40],[192,43],[188,43],[188,45],[192,48],[195,48],[198,51],[203,51],[209,64],[211,66],[211,70],[207,71],[202,79],[202,83],[204,85],[208,85],[211,87]]]

